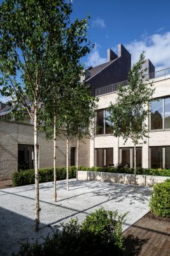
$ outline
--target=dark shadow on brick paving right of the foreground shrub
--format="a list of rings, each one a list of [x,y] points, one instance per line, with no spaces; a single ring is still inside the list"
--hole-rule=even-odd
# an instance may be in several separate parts
[[[135,237],[132,234],[129,234],[125,237],[124,245],[125,245],[125,253],[123,256],[138,256],[141,253],[142,247],[144,244],[148,243],[148,239],[141,239],[138,236]]]

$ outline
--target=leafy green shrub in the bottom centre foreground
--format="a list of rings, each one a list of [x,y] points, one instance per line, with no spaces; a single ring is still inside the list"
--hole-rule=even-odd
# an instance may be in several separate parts
[[[124,239],[122,223],[125,214],[106,211],[103,207],[87,216],[83,223],[77,219],[62,225],[62,233],[57,230],[47,236],[43,244],[26,243],[18,256],[101,256],[123,255]]]

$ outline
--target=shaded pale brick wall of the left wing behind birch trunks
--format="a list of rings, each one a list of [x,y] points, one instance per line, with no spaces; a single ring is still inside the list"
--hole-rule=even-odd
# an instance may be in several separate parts
[[[39,134],[39,166],[53,166],[53,141]],[[76,140],[69,143],[76,147]],[[0,120],[0,180],[11,178],[18,168],[18,144],[34,145],[33,126]],[[79,165],[90,165],[89,140],[79,143]],[[70,163],[70,154],[69,154]],[[57,138],[57,166],[66,166],[66,138]]]

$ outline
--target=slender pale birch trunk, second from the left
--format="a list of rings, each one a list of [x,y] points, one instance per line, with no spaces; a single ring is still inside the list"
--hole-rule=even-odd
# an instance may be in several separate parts
[[[53,113],[53,201],[57,201],[57,186],[56,186],[56,114]]]

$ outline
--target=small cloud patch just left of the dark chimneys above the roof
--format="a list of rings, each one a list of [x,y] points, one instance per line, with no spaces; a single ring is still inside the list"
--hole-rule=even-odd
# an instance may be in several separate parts
[[[87,62],[85,63],[87,67],[89,66],[96,67],[97,65],[101,65],[107,61],[107,58],[103,58],[100,56],[99,48],[101,48],[101,45],[95,44],[94,49],[87,57]]]

